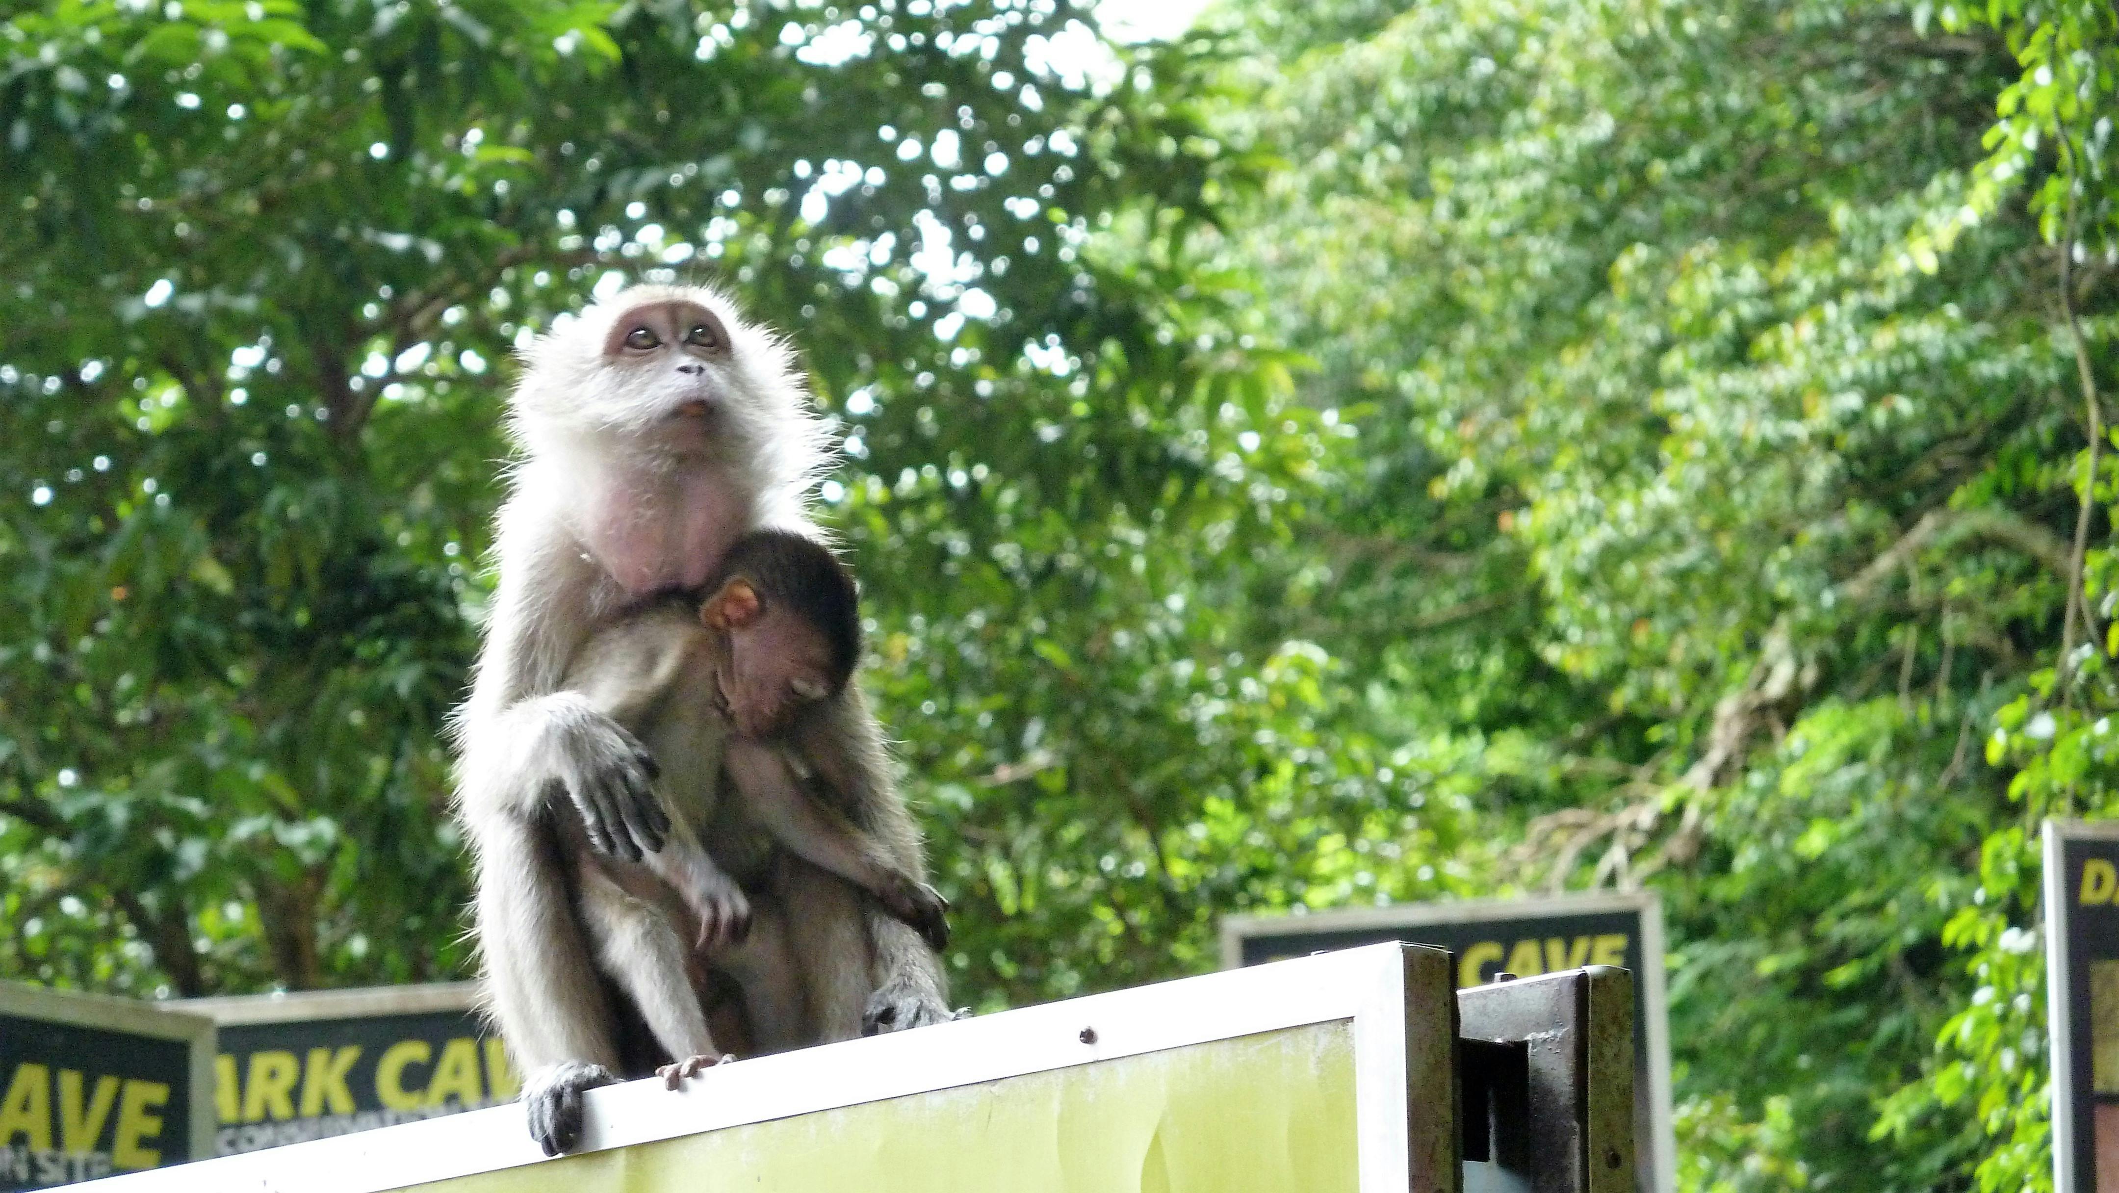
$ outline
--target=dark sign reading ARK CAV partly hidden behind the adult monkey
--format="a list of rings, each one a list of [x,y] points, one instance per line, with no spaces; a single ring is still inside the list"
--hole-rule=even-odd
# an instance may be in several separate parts
[[[214,1153],[233,1155],[515,1098],[470,983],[195,998],[220,1023]]]

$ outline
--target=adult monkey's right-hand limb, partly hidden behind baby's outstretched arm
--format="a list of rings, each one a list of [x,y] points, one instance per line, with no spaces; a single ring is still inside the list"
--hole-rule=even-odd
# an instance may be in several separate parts
[[[797,750],[845,799],[848,818],[873,837],[915,882],[926,879],[920,829],[890,778],[884,729],[860,684],[809,708],[790,729]],[[875,945],[875,994],[862,1013],[862,1034],[903,1032],[951,1019],[941,958],[918,932],[879,905],[865,905]]]

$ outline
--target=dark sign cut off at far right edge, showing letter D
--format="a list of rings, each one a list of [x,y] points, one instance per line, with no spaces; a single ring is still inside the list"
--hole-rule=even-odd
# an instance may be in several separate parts
[[[2119,822],[2045,822],[2053,1189],[2119,1193]]]

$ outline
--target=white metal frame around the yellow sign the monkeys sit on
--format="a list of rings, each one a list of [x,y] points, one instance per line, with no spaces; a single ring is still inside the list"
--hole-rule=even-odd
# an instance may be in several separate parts
[[[712,1068],[672,1093],[634,1081],[587,1096],[574,1155],[1030,1072],[1352,1021],[1360,1193],[1456,1176],[1456,992],[1447,954],[1373,945],[1023,1007]],[[1085,1032],[1087,1028],[1087,1032]],[[545,1163],[521,1104],[127,1174],[97,1193],[384,1193]]]

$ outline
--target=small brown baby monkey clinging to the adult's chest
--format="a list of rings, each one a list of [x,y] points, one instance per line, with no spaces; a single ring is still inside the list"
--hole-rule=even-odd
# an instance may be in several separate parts
[[[799,964],[797,915],[769,915],[771,926],[752,932],[746,886],[793,909],[799,898],[778,888],[822,879],[786,879],[786,865],[756,865],[771,845],[869,892],[932,947],[947,943],[947,903],[850,818],[854,801],[835,784],[839,750],[829,727],[807,716],[845,689],[858,659],[860,610],[845,566],[801,534],[752,532],[729,549],[704,604],[659,602],[621,621],[568,674],[570,689],[636,733],[661,765],[657,797],[670,833],[659,852],[631,862],[595,848],[572,818],[555,820],[600,968],[678,1057],[665,1068],[672,1081],[720,1055],[695,990],[680,981],[697,981],[699,956],[729,960],[720,968],[759,1019],[816,1019],[814,1004],[831,998],[795,990],[801,979],[790,975],[816,968]],[[723,782],[733,801],[720,799]]]

